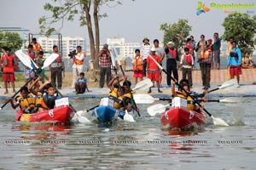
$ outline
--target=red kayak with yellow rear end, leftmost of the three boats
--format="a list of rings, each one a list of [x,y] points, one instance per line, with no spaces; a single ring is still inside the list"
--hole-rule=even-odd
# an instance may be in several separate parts
[[[58,122],[61,124],[69,123],[72,119],[74,111],[70,106],[56,107],[49,111],[38,113],[22,113],[21,110],[16,112],[15,121],[20,122]]]

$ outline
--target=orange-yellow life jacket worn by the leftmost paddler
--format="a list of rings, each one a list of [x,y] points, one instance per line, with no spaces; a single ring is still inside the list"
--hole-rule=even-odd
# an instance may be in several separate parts
[[[28,111],[32,111],[35,107],[35,99],[32,94],[28,94],[26,98],[22,98],[21,96],[17,96],[15,98],[16,102],[20,104],[20,109],[27,109]]]

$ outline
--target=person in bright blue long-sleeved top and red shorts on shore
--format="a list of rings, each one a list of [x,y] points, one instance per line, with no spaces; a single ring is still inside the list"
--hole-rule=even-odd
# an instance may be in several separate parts
[[[227,65],[230,66],[230,79],[236,76],[237,82],[239,83],[241,75],[241,50],[236,47],[236,41],[232,42]]]

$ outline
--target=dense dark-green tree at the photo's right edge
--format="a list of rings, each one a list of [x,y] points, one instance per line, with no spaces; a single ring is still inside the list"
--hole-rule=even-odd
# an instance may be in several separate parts
[[[256,15],[252,18],[249,14],[233,13],[229,14],[222,23],[224,26],[223,40],[228,41],[234,37],[241,51],[253,52],[256,39]]]

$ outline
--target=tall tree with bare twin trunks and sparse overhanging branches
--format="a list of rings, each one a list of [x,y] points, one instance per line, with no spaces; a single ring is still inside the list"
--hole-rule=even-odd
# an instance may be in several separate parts
[[[74,16],[79,14],[80,26],[87,26],[90,41],[91,59],[94,61],[94,68],[97,70],[100,46],[100,28],[99,20],[107,17],[106,13],[100,14],[99,9],[102,5],[113,7],[121,4],[118,0],[52,0],[55,6],[45,3],[44,9],[51,12],[51,17],[43,16],[39,21],[40,29],[49,36],[55,28],[52,26],[56,22],[61,22],[63,26],[64,20],[72,21]],[[92,15],[92,17],[91,17]]]

